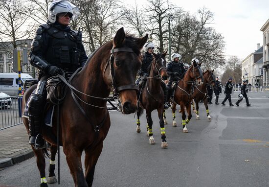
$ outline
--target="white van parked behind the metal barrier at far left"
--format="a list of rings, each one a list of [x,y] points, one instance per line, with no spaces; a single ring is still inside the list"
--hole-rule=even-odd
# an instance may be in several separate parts
[[[22,88],[26,79],[33,79],[33,77],[27,73],[21,73]],[[19,95],[19,74],[0,73],[0,91],[10,96]]]

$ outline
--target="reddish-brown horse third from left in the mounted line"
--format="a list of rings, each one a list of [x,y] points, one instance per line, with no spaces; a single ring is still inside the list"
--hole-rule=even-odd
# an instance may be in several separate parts
[[[200,63],[201,64],[201,63]],[[176,122],[176,105],[180,105],[181,114],[182,114],[182,126],[183,132],[188,133],[188,129],[186,127],[186,123],[188,124],[192,114],[191,114],[191,91],[195,82],[199,84],[202,83],[202,70],[200,66],[194,61],[192,66],[187,70],[182,80],[179,80],[178,84],[176,85],[176,90],[174,92],[173,106],[172,106],[172,115],[173,115],[173,126],[177,126]],[[188,113],[188,118],[186,120],[185,109]]]

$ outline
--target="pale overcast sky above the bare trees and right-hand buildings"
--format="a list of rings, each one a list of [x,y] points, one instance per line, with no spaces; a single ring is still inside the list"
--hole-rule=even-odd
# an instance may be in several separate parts
[[[185,11],[196,13],[205,6],[214,13],[213,27],[224,36],[226,55],[244,59],[257,43],[263,45],[261,27],[269,19],[269,0],[169,0]],[[146,0],[136,0],[145,4]],[[134,0],[128,3],[135,3]]]

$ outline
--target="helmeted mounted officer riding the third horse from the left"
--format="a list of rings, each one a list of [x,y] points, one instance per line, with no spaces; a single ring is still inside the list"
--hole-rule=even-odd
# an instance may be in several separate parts
[[[179,79],[182,79],[185,72],[187,71],[184,68],[184,64],[180,61],[182,56],[179,53],[173,53],[170,57],[171,62],[167,63],[167,73],[169,75],[169,81],[167,83],[167,97],[166,104],[170,106],[170,97],[172,95],[172,83],[173,81],[178,82]]]

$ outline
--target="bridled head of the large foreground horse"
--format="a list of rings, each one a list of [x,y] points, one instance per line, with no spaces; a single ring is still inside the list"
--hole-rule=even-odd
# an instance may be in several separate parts
[[[147,42],[147,39],[148,35],[142,38],[126,35],[122,27],[112,40],[111,72],[105,74],[104,80],[107,85],[112,83],[114,93],[119,95],[123,114],[134,113],[137,108],[136,91],[138,86],[134,84],[134,81],[142,64],[140,49]]]

